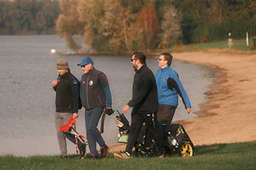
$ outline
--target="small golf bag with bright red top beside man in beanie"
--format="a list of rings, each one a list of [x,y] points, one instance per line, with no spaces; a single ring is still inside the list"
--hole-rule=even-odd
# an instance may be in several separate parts
[[[86,136],[78,134],[78,131],[75,130],[75,123],[76,119],[70,117],[69,122],[61,125],[59,131],[62,131],[64,136],[66,136],[70,142],[75,144],[75,151],[78,153],[79,150],[80,156],[83,159],[86,156],[86,145],[88,142],[86,141]]]

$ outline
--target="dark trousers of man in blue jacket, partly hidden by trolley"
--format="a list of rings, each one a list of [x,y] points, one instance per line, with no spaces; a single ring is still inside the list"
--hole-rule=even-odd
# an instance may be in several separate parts
[[[159,105],[158,112],[157,112],[157,120],[161,125],[170,124],[173,120],[173,115],[176,111],[176,107],[171,105]],[[162,128],[161,128],[162,130]],[[162,133],[160,133],[162,134]],[[146,137],[145,137],[145,145],[144,147],[151,147],[152,146],[152,136],[146,130]]]

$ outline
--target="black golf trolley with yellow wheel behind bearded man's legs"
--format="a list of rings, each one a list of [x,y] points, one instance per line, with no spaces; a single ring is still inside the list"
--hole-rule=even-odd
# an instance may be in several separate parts
[[[118,142],[127,143],[129,136],[129,121],[124,114],[118,112],[117,109],[115,111],[118,113],[118,116],[116,116],[116,123],[119,131]],[[194,144],[191,139],[189,139],[189,135],[184,127],[178,123],[162,125],[162,139],[165,155],[178,154],[181,157],[192,157],[195,155]],[[152,141],[152,147],[147,149],[144,147],[145,142],[146,125],[144,124],[140,130],[137,144],[135,144],[135,153],[144,156],[156,155],[157,150],[154,141]]]

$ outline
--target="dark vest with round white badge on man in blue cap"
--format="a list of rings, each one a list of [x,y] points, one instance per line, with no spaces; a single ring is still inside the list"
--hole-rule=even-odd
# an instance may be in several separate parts
[[[106,106],[104,88],[108,86],[108,80],[103,72],[91,69],[88,73],[83,74],[80,85],[83,107],[93,109]]]

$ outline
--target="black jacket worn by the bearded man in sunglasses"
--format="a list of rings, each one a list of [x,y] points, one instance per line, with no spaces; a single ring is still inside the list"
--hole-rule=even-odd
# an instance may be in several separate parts
[[[132,100],[128,102],[133,107],[132,112],[157,112],[157,83],[153,72],[144,64],[140,70],[135,70],[132,87]]]

